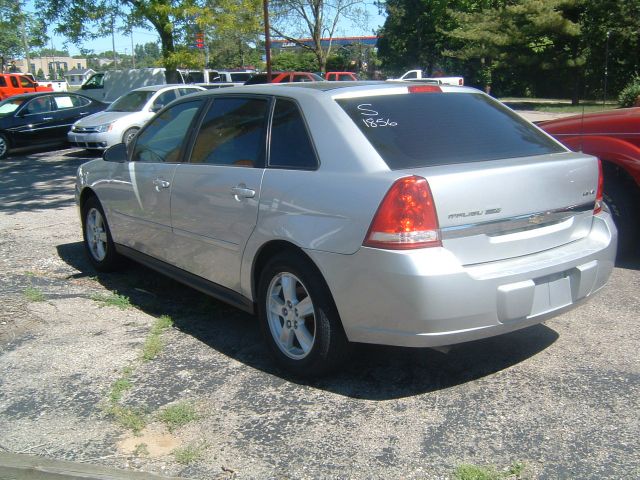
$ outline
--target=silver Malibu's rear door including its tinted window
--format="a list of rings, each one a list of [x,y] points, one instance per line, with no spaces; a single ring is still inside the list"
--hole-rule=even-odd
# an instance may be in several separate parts
[[[172,263],[240,291],[240,262],[256,225],[270,98],[216,96],[189,163],[171,190]]]

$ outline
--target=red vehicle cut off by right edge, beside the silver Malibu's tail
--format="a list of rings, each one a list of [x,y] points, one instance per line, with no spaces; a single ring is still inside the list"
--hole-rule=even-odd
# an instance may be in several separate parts
[[[602,161],[604,200],[618,227],[618,253],[637,251],[640,239],[640,108],[622,108],[540,122],[571,150]]]

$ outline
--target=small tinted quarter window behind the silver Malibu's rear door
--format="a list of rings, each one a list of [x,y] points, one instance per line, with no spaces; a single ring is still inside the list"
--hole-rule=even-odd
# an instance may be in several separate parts
[[[300,110],[291,100],[276,100],[271,124],[269,166],[315,169],[316,154]]]

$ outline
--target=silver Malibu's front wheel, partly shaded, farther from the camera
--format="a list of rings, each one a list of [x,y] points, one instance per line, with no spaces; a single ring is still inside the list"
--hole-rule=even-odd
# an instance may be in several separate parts
[[[121,257],[116,252],[111,231],[102,205],[96,197],[90,197],[82,207],[82,236],[91,264],[101,272],[116,270]]]

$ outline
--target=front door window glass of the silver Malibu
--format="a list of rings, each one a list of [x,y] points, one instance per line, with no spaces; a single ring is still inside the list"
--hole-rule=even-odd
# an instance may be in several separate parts
[[[135,141],[134,162],[175,163],[182,158],[182,146],[202,101],[179,103],[149,122]]]

